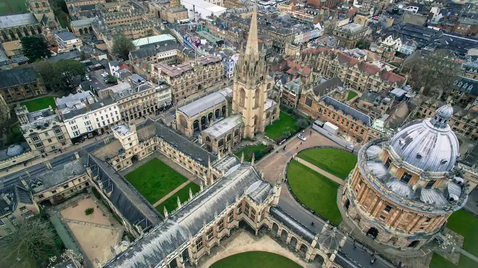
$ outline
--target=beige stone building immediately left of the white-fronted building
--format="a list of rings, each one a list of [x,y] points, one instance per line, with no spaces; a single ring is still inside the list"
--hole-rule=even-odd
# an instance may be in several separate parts
[[[20,130],[31,151],[36,155],[56,152],[72,145],[60,115],[53,108],[28,112],[25,105],[15,108]]]

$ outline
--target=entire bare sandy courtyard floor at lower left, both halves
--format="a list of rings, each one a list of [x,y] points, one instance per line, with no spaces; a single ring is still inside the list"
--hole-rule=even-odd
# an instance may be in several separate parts
[[[111,248],[120,242],[122,227],[111,222],[106,216],[107,209],[95,201],[92,197],[82,199],[60,213],[90,262],[101,267],[113,257]],[[86,215],[87,208],[93,208],[93,213]]]

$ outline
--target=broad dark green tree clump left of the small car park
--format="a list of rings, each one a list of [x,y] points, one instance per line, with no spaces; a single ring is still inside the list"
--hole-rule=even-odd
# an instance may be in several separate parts
[[[75,77],[85,75],[85,67],[75,60],[42,61],[35,68],[45,85],[54,91],[69,91],[69,86],[76,86]]]

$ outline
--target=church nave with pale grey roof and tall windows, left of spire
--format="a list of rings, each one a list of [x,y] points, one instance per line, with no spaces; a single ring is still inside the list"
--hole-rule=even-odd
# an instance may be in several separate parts
[[[233,89],[225,88],[176,108],[176,128],[186,137],[205,130],[228,116],[228,98],[232,95]]]

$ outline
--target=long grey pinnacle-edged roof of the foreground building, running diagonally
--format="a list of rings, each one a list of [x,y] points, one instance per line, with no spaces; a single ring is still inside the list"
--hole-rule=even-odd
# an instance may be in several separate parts
[[[262,185],[266,185],[262,187]],[[262,189],[257,192],[257,189]],[[226,210],[226,204],[233,204],[247,189],[248,196],[262,203],[272,187],[260,179],[257,171],[248,164],[239,164],[221,179],[205,188],[188,203],[174,211],[159,226],[134,242],[129,249],[105,265],[107,268],[156,267],[167,256],[189,241],[189,235],[196,235],[203,228],[203,221],[210,223]],[[168,209],[168,208],[166,208]],[[172,210],[173,208],[169,208]],[[235,209],[235,208],[232,208]]]

